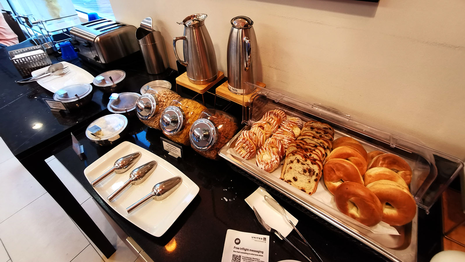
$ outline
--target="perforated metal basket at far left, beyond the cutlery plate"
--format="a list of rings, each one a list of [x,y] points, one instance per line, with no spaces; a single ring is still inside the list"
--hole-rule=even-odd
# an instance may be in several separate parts
[[[15,58],[15,56],[34,50],[42,50],[43,53]],[[41,45],[12,50],[8,52],[8,55],[10,55],[10,61],[23,77],[31,76],[32,71],[52,64],[50,57],[48,57],[45,49]]]

